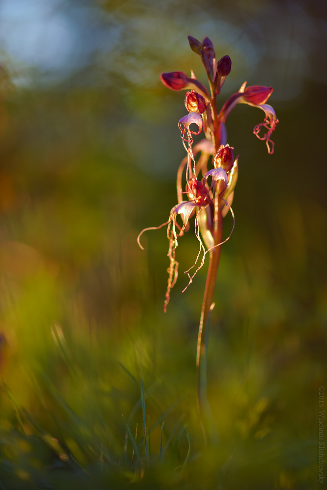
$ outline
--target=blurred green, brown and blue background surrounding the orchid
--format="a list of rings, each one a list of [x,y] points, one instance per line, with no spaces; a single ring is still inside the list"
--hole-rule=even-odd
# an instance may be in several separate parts
[[[273,155],[252,133],[261,111],[239,105],[227,121],[240,171],[210,326],[219,444],[207,449],[195,370],[207,266],[182,294],[198,250],[187,233],[164,314],[165,231],[144,235],[145,251],[136,242],[177,202],[184,93],[159,74],[205,82],[189,34],[232,58],[219,104],[244,80],[272,85],[280,120]],[[318,488],[325,1],[1,0],[0,63],[0,488]],[[138,476],[121,413],[143,458],[140,366],[151,463]]]

